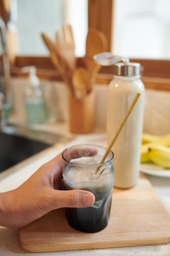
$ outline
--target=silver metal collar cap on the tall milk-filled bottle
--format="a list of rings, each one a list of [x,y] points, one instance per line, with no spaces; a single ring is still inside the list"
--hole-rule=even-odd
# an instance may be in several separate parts
[[[135,62],[129,63],[115,63],[114,75],[115,76],[138,76],[140,77],[141,64]]]

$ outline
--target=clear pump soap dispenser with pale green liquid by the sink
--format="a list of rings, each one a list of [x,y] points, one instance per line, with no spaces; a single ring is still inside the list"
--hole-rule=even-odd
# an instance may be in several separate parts
[[[43,124],[46,121],[46,104],[40,80],[36,76],[36,67],[22,67],[22,72],[29,72],[30,86],[26,88],[24,95],[27,124]]]

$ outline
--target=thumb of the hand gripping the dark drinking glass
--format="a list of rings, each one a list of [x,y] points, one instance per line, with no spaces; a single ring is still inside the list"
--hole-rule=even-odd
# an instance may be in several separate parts
[[[95,203],[93,193],[86,190],[53,190],[53,196],[53,209],[90,207]]]

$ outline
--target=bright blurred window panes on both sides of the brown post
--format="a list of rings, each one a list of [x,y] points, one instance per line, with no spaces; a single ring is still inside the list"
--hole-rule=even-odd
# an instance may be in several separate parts
[[[103,2],[107,5],[107,0]],[[84,56],[88,0],[11,0],[10,5],[7,26],[16,33],[17,55],[47,56],[41,32],[54,38],[55,32],[67,23],[73,28],[76,56]],[[113,54],[170,59],[169,10],[169,0],[114,0]]]

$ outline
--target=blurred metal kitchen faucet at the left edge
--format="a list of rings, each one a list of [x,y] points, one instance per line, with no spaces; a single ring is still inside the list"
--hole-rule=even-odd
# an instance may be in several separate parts
[[[2,52],[0,52],[0,125],[7,121],[12,110],[11,75],[7,51],[7,28],[0,17],[0,39]],[[0,49],[1,50],[1,49]]]

